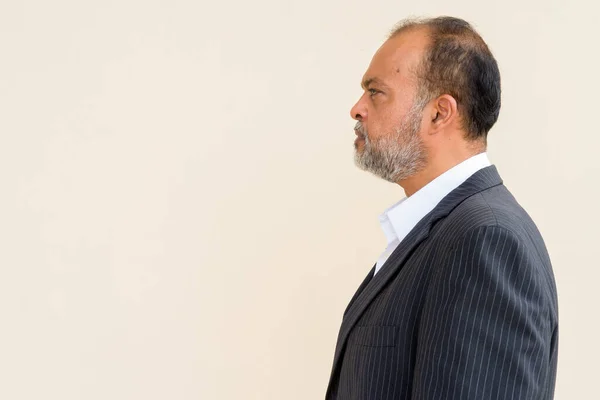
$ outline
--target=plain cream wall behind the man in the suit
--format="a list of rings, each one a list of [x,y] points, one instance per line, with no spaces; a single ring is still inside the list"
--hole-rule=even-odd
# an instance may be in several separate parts
[[[542,231],[556,398],[596,399],[594,1],[0,3],[0,398],[318,399],[404,193],[349,110],[400,19],[472,22],[489,156]]]

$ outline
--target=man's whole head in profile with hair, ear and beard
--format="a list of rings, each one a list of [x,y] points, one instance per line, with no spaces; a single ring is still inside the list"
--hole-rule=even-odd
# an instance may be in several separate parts
[[[357,120],[357,165],[402,183],[485,150],[500,111],[500,73],[479,34],[451,17],[397,25],[373,56]]]

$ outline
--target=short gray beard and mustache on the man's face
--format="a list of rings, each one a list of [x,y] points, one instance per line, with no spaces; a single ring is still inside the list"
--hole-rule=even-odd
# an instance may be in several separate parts
[[[399,183],[420,172],[426,164],[427,154],[419,137],[421,110],[408,113],[395,132],[371,141],[359,122],[356,130],[365,138],[362,151],[356,149],[355,164],[389,182]]]

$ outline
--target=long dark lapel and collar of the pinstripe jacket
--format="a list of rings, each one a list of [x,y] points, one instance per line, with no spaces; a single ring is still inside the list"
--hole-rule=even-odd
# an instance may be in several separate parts
[[[344,314],[335,348],[335,356],[333,358],[332,378],[334,377],[336,368],[340,362],[340,357],[343,354],[350,331],[377,294],[391,278],[398,274],[417,246],[429,236],[431,227],[437,221],[446,217],[467,198],[501,184],[502,179],[500,178],[500,175],[498,175],[498,171],[494,165],[479,170],[462,185],[444,197],[436,208],[415,226],[408,236],[406,236],[400,245],[392,252],[388,260],[383,264],[375,276],[373,276],[374,268],[369,272],[369,275],[367,275],[367,278],[365,278],[355,293]],[[371,279],[371,277],[373,278]]]

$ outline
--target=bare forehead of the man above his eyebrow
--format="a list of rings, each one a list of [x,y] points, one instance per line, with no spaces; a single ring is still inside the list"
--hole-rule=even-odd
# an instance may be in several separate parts
[[[363,84],[383,81],[388,85],[411,82],[429,43],[425,28],[414,28],[388,39],[375,53]]]

